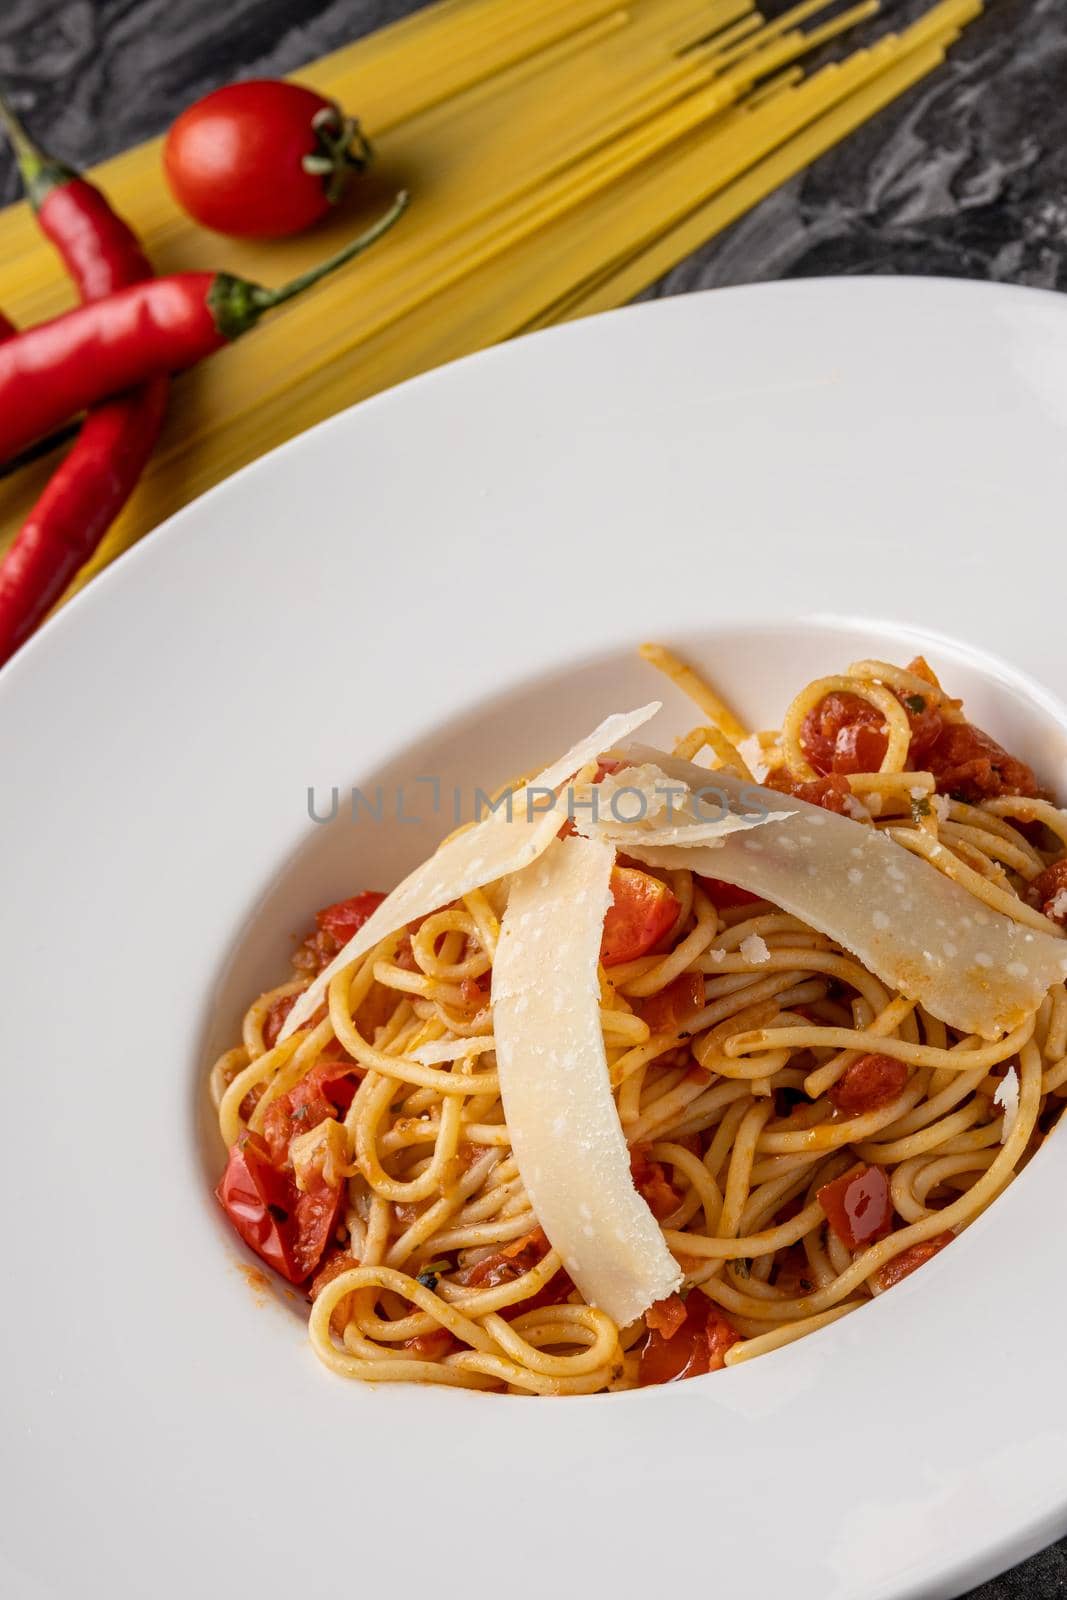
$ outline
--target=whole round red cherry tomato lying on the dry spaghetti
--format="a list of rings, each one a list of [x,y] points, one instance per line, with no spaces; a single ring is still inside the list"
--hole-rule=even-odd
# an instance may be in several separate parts
[[[205,94],[174,122],[163,146],[179,206],[218,234],[280,238],[330,211],[371,150],[339,107],[274,78]]]

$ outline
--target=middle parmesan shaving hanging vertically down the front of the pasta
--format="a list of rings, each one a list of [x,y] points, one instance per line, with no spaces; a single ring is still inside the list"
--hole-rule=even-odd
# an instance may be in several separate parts
[[[510,886],[493,965],[504,1115],[530,1203],[590,1306],[619,1326],[681,1283],[637,1194],[611,1094],[597,962],[611,846],[555,840]]]

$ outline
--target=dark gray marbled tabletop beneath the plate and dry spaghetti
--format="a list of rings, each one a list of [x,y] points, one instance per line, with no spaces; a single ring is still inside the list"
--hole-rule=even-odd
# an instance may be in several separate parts
[[[896,24],[925,3],[885,0],[883,11]],[[216,83],[290,72],[414,8],[411,0],[3,0],[0,82],[56,154],[88,165],[158,133]],[[0,154],[0,203],[16,194]],[[992,0],[941,72],[653,293],[845,272],[1067,290],[1067,0]],[[1067,1541],[971,1600],[1032,1597],[1067,1600]]]

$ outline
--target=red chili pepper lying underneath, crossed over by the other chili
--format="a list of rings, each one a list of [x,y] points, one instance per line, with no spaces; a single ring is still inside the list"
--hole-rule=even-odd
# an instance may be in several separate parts
[[[152,277],[138,240],[99,189],[40,150],[3,101],[0,118],[42,232],[82,299],[101,299]],[[43,621],[125,506],[158,437],[168,389],[165,376],[154,378],[90,411],[0,560],[0,666]]]

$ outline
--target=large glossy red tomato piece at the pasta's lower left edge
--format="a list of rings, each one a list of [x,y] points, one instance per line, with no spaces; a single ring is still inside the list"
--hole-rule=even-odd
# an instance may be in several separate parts
[[[344,1184],[302,1194],[274,1166],[259,1134],[245,1133],[230,1149],[216,1197],[250,1250],[290,1283],[304,1283],[338,1226]]]

